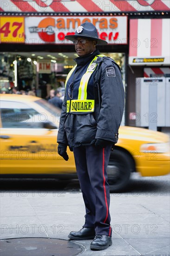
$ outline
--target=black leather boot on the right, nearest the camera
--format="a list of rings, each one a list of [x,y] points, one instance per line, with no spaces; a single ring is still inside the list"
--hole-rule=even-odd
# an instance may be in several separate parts
[[[104,250],[104,249],[107,249],[109,246],[111,246],[111,244],[112,244],[111,236],[96,235],[90,245],[90,249]]]

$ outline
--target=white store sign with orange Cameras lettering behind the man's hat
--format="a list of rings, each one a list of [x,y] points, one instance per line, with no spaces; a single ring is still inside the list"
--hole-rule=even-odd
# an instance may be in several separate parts
[[[71,44],[65,35],[75,34],[78,26],[92,22],[98,37],[109,44],[127,44],[127,17],[26,17],[25,32],[28,44]]]

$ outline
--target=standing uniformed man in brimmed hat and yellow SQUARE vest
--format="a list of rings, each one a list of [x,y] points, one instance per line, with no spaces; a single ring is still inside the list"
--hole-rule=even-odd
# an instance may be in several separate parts
[[[106,168],[118,141],[124,87],[117,63],[99,53],[97,46],[107,42],[98,38],[92,23],[83,23],[65,38],[73,42],[79,57],[65,81],[58,153],[67,161],[67,146],[73,149],[86,211],[83,228],[68,237],[93,239],[90,248],[102,250],[112,244]]]

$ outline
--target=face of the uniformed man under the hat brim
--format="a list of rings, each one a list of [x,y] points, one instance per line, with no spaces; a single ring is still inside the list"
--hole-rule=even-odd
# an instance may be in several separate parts
[[[79,40],[85,39],[85,44],[81,43]],[[78,44],[75,44],[75,50],[79,57],[85,56],[87,54],[91,54],[96,50],[96,41],[88,40],[86,38],[78,37]]]

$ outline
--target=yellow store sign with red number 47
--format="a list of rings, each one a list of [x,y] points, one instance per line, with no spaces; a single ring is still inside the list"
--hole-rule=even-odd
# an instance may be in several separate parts
[[[0,17],[0,42],[25,42],[24,17]]]

